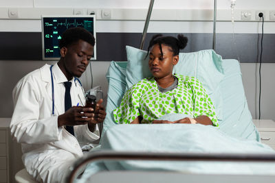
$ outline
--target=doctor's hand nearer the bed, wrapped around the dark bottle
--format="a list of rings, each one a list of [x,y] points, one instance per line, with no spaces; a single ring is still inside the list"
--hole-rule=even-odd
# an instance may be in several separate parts
[[[102,123],[106,117],[105,108],[102,106],[103,99],[96,103],[96,110],[88,122],[88,127],[91,132],[94,132],[96,123]]]

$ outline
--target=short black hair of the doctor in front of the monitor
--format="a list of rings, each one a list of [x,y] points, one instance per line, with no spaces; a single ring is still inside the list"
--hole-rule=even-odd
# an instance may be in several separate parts
[[[93,47],[96,43],[93,34],[87,31],[87,29],[84,29],[83,27],[72,27],[63,32],[61,40],[59,41],[59,48],[69,47],[70,45],[78,42],[78,40],[84,40]]]

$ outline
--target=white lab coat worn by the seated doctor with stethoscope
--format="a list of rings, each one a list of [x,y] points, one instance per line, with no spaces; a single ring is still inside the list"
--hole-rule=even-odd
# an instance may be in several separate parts
[[[52,82],[50,65],[45,64],[23,77],[14,87],[14,113],[10,123],[12,136],[21,143],[23,163],[39,182],[64,181],[66,170],[83,156],[81,147],[92,147],[100,138],[98,126],[90,132],[87,125],[74,126],[75,136],[58,127],[58,115],[65,112],[67,78],[57,64],[53,68],[54,112],[52,115]],[[72,106],[85,104],[84,90],[72,82]]]

